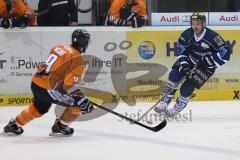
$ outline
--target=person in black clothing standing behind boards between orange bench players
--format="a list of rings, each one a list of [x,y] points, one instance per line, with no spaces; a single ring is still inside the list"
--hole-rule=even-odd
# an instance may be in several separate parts
[[[39,0],[38,12],[39,26],[78,25],[78,11],[74,0]]]

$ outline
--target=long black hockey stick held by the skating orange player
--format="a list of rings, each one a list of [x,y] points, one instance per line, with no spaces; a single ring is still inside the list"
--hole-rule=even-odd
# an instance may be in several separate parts
[[[157,126],[155,126],[155,127],[149,127],[149,126],[146,126],[146,125],[144,125],[144,124],[142,124],[142,123],[139,123],[138,121],[136,121],[136,120],[134,120],[134,119],[125,117],[125,116],[123,116],[123,115],[120,114],[120,113],[114,112],[114,111],[112,111],[112,110],[110,110],[110,109],[108,109],[108,108],[106,108],[106,107],[104,107],[104,106],[101,106],[101,105],[96,104],[96,103],[94,103],[94,102],[91,102],[91,103],[92,103],[94,106],[96,106],[96,107],[98,107],[98,108],[100,108],[100,109],[102,109],[102,110],[105,110],[105,111],[107,111],[107,112],[109,112],[109,113],[112,113],[112,114],[114,114],[114,115],[116,115],[116,116],[118,116],[118,117],[120,117],[120,118],[123,118],[123,119],[125,119],[125,120],[128,120],[128,121],[130,121],[130,122],[132,122],[132,123],[134,123],[134,124],[137,124],[137,125],[139,125],[139,126],[141,126],[141,127],[144,127],[144,128],[146,128],[146,129],[148,129],[148,130],[151,130],[151,131],[153,131],[153,132],[158,132],[158,131],[160,131],[161,129],[163,129],[163,128],[167,125],[167,120],[164,119],[164,120],[163,120],[160,124],[158,124]]]

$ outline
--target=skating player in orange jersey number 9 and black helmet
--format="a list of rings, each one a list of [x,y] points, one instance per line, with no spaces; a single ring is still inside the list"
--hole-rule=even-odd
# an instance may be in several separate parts
[[[84,95],[69,93],[74,85],[79,84],[84,73],[84,61],[81,53],[85,52],[90,41],[90,34],[82,29],[72,33],[72,44],[54,47],[46,62],[39,66],[32,78],[31,89],[34,102],[24,109],[15,119],[4,127],[5,133],[20,135],[22,126],[34,118],[48,112],[51,105],[60,104],[66,109],[57,118],[52,127],[52,134],[72,135],[74,130],[69,124],[80,114],[89,113],[93,105]]]

